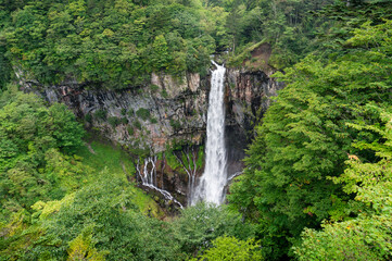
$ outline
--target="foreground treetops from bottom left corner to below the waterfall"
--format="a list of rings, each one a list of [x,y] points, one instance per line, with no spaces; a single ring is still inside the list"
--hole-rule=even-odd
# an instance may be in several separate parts
[[[20,227],[20,216],[3,227],[8,233],[0,240],[2,257],[65,260],[83,254],[98,260],[186,260],[219,236],[246,240],[253,235],[246,225],[241,228],[238,214],[224,208],[199,204],[168,223],[139,213],[132,197],[124,183],[104,178],[61,201],[38,201],[33,206],[28,229]]]

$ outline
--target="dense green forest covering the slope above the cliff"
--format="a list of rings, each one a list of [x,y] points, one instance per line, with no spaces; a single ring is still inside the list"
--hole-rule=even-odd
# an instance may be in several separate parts
[[[3,0],[0,78],[12,65],[41,84],[125,88],[146,84],[151,72],[204,74],[212,53],[232,55],[261,41],[273,45],[271,63],[283,67],[314,49],[308,42],[325,18],[307,12],[330,2]]]

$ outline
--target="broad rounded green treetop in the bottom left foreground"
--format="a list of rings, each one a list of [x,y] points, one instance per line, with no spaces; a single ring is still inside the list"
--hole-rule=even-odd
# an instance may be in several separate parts
[[[23,235],[11,235],[4,253],[24,260],[80,260],[80,257],[90,258],[88,260],[103,260],[104,257],[109,260],[184,260],[170,238],[169,226],[139,213],[135,200],[132,188],[124,181],[105,177],[61,200],[38,201],[33,207],[34,226]],[[38,235],[35,234],[37,229]],[[25,243],[28,248],[17,245],[26,237],[29,238]]]

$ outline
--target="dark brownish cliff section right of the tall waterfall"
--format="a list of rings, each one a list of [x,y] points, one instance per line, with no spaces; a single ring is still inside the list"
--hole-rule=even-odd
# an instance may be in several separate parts
[[[283,88],[270,77],[274,71],[228,69],[226,78],[226,144],[228,175],[243,169],[244,149],[254,136],[254,126],[268,109],[271,97]]]

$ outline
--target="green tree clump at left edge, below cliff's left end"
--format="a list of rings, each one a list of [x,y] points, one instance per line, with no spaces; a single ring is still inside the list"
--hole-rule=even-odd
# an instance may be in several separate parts
[[[37,200],[60,199],[88,174],[71,153],[81,145],[83,127],[65,105],[49,108],[34,95],[4,94],[0,107],[2,216]]]

